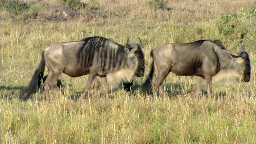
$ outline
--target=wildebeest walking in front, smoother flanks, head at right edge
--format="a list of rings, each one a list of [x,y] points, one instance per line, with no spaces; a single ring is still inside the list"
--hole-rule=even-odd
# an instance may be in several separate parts
[[[142,86],[144,91],[152,86],[154,96],[157,92],[164,97],[160,86],[169,72],[179,76],[198,76],[197,91],[201,88],[202,78],[206,80],[207,93],[212,93],[212,77],[220,72],[232,73],[232,76],[244,82],[250,81],[250,59],[247,52],[235,54],[226,50],[220,40],[198,40],[190,43],[162,44],[154,48],[150,56],[153,58],[148,78]],[[158,68],[158,76],[151,85],[154,74],[154,62]],[[159,87],[160,86],[160,87]]]

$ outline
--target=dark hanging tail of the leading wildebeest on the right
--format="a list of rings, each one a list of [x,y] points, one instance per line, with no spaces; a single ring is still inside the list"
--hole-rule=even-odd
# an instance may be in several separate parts
[[[153,60],[152,60],[150,72],[148,73],[148,78],[146,79],[146,81],[142,85],[142,90],[144,92],[148,92],[152,88],[152,78],[153,78],[153,75],[154,75],[154,58],[153,58],[152,51],[150,52],[150,57],[152,57]]]

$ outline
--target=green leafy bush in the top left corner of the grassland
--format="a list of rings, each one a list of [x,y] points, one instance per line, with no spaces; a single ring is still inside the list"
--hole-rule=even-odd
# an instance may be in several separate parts
[[[30,4],[19,0],[1,0],[1,8],[6,8],[7,12],[20,14],[30,8]]]

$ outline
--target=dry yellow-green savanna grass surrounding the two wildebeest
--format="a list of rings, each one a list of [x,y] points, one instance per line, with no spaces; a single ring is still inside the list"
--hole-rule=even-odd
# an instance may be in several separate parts
[[[107,18],[40,21],[36,13],[63,1],[20,1],[23,9],[1,0],[1,141],[7,143],[225,143],[255,144],[255,1],[254,0],[88,0]],[[161,3],[162,2],[162,3]],[[23,5],[24,6],[24,5]],[[160,6],[172,10],[158,9]],[[12,8],[14,9],[14,8]],[[89,8],[81,8],[84,12]],[[18,12],[14,14],[14,12]],[[214,97],[193,96],[194,76],[170,73],[164,81],[168,98],[152,98],[136,78],[132,92],[113,89],[107,103],[102,87],[77,102],[87,76],[62,75],[64,95],[50,102],[43,92],[19,99],[38,65],[42,50],[55,42],[103,36],[120,44],[142,39],[149,71],[150,50],[163,43],[222,40],[238,52],[242,44],[251,59],[251,81],[213,84]],[[47,73],[47,68],[46,72]],[[60,91],[56,88],[56,91]]]

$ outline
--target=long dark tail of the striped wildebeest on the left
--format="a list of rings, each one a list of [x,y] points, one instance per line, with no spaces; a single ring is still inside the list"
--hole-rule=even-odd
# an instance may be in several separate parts
[[[29,98],[30,94],[34,93],[36,89],[40,86],[43,75],[44,75],[44,68],[45,68],[44,52],[42,52],[41,58],[39,60],[38,68],[34,72],[31,78],[31,81],[25,90],[25,94],[26,94],[25,99]]]

